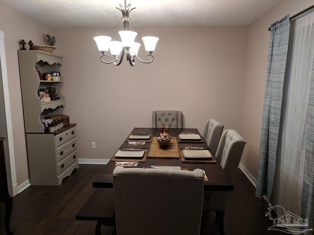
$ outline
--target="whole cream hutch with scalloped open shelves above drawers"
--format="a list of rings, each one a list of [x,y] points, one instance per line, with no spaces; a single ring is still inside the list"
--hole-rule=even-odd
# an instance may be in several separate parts
[[[30,184],[60,185],[78,168],[76,124],[70,123],[52,133],[45,131],[42,118],[63,114],[63,77],[61,72],[58,81],[42,80],[35,68],[41,74],[60,71],[63,57],[41,50],[19,50],[18,56]],[[55,87],[60,99],[42,101],[38,90],[50,86]]]

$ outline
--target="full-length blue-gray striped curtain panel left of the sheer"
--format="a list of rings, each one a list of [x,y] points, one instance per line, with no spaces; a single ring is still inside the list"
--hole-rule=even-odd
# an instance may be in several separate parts
[[[261,198],[263,195],[267,195],[268,202],[273,187],[277,155],[290,30],[289,17],[288,15],[280,22],[275,22],[270,26],[260,159],[256,187],[256,196]]]

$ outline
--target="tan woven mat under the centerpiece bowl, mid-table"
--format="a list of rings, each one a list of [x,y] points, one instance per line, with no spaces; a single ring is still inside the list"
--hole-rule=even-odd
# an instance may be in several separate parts
[[[148,158],[180,158],[177,139],[171,138],[169,145],[161,148],[157,137],[154,136],[149,148]]]

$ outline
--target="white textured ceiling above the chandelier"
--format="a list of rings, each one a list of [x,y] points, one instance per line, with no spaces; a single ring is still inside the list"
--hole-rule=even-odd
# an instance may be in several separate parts
[[[127,0],[130,27],[250,25],[282,0]],[[0,0],[52,27],[122,27],[124,0]]]

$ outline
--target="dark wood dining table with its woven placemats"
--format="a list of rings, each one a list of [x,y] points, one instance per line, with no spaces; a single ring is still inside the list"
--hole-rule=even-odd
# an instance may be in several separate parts
[[[131,136],[146,136],[147,139],[131,139]],[[157,136],[160,134],[159,128],[134,128],[128,137],[123,141],[116,153],[105,165],[101,175],[98,175],[93,181],[94,188],[113,188],[113,169],[117,165],[128,165],[125,167],[142,168],[175,168],[181,167],[182,170],[203,169],[205,172],[204,190],[205,191],[233,191],[234,186],[224,172],[223,168],[217,162],[210,152],[207,143],[201,136],[197,128],[170,128],[169,145],[160,146],[157,142]],[[191,138],[189,138],[191,135]],[[188,137],[180,139],[180,136]],[[196,139],[195,137],[200,137]],[[122,150],[141,150],[145,151],[142,158],[128,158],[118,155]],[[183,149],[192,149],[192,153],[198,153],[200,149],[209,150],[211,157],[203,158],[185,158]],[[118,156],[118,157],[116,157]],[[128,163],[135,163],[133,165]]]

